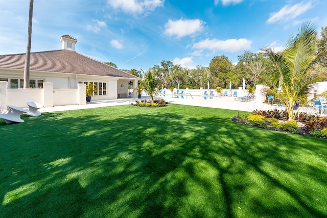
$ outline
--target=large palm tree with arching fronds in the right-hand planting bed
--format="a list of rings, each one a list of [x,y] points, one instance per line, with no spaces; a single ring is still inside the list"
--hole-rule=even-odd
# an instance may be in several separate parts
[[[265,89],[267,94],[272,94],[286,106],[288,120],[294,119],[301,109],[294,112],[296,104],[307,105],[313,101],[310,90],[316,82],[323,79],[323,74],[308,81],[308,71],[317,63],[327,50],[317,54],[315,44],[315,28],[310,22],[303,23],[296,36],[291,36],[286,44],[286,49],[275,53],[271,47],[262,49],[270,61],[270,69],[266,81],[271,89]],[[327,95],[327,91],[319,94]],[[318,96],[319,96],[318,95]],[[313,97],[313,98],[312,98]]]

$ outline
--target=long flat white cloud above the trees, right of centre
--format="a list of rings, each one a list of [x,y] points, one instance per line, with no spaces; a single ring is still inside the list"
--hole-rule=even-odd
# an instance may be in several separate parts
[[[194,43],[192,49],[204,50],[208,49],[211,51],[224,51],[224,52],[239,52],[242,50],[251,49],[252,41],[247,39],[205,39],[203,41]]]

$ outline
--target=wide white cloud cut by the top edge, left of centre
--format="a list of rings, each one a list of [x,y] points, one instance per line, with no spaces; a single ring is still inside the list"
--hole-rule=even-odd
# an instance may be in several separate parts
[[[114,9],[121,9],[127,14],[141,14],[145,11],[153,11],[164,5],[165,0],[107,0]]]

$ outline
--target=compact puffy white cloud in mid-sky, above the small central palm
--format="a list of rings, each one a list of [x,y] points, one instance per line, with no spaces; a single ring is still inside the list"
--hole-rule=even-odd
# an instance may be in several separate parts
[[[194,35],[203,30],[204,23],[205,22],[199,19],[169,19],[168,22],[165,23],[165,34],[176,36],[176,38]]]

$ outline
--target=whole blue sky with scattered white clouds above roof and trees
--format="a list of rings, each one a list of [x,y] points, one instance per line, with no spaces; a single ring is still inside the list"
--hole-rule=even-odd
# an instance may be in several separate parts
[[[304,21],[320,33],[326,9],[325,0],[34,0],[31,51],[61,49],[69,34],[77,52],[121,69],[235,63],[245,50],[283,49]],[[0,54],[26,52],[28,14],[28,0],[0,0]]]

